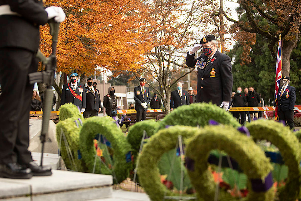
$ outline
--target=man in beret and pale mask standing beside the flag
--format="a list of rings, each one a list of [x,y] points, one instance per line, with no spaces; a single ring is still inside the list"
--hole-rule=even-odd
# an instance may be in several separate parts
[[[274,100],[274,106],[278,107],[279,120],[286,121],[291,130],[295,129],[294,110],[296,103],[296,89],[289,85],[289,77],[283,76],[283,86],[277,91],[277,99]]]

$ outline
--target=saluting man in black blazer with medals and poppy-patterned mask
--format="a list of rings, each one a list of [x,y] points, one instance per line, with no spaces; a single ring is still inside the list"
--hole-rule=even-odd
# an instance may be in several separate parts
[[[210,102],[228,110],[233,85],[230,57],[217,50],[214,35],[206,35],[201,44],[187,52],[186,65],[198,68],[197,102]],[[197,59],[195,52],[202,47],[203,54]]]

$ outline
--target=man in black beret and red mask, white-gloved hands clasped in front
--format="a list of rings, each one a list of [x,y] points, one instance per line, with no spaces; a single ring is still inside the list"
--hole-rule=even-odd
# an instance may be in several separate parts
[[[148,89],[148,87],[144,86],[146,83],[145,78],[141,78],[139,82],[140,86],[134,88],[134,100],[136,102],[135,110],[137,112],[137,122],[145,120],[147,104],[150,102],[150,90]]]

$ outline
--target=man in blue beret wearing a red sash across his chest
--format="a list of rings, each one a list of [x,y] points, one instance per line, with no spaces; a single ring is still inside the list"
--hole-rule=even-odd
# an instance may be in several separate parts
[[[77,82],[77,73],[72,73],[69,78],[70,82],[63,85],[61,105],[73,103],[79,107],[81,112],[84,112],[86,110],[85,85]]]

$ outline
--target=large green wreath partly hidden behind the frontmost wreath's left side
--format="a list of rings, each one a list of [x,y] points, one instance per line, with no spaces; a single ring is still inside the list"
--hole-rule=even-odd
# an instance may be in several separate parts
[[[183,140],[199,133],[199,128],[188,126],[173,126],[168,129],[162,129],[154,134],[144,145],[141,155],[139,155],[138,176],[140,185],[153,201],[161,201],[166,196],[179,196],[178,193],[172,193],[160,180],[158,162],[161,156],[175,149],[178,135],[182,135]],[[168,199],[166,199],[168,200]]]

